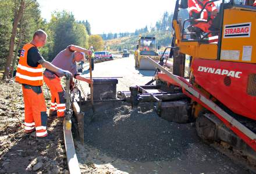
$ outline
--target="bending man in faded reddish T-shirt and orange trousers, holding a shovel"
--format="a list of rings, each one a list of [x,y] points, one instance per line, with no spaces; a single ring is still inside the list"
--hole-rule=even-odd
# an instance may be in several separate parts
[[[52,64],[63,70],[70,71],[72,77],[91,84],[92,81],[89,78],[84,78],[77,72],[76,62],[84,61],[85,53],[87,56],[91,55],[90,50],[76,45],[69,45],[66,49],[59,52],[54,60],[52,60]],[[61,77],[63,77],[63,74],[56,73],[48,68],[44,71],[45,84],[51,91],[49,115],[57,115],[57,117],[64,117],[66,110],[65,91],[61,85]]]

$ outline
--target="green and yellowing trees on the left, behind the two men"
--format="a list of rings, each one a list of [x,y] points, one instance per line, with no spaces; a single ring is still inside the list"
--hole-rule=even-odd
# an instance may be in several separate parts
[[[70,44],[104,49],[101,36],[91,35],[87,20],[77,21],[72,13],[63,10],[53,12],[47,22],[42,19],[36,0],[0,0],[0,70],[5,70],[4,79],[16,68],[18,50],[32,40],[38,29],[48,34],[47,44],[40,48],[40,53],[48,61]]]

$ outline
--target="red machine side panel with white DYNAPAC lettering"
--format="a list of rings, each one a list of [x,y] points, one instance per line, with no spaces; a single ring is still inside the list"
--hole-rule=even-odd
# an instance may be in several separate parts
[[[234,113],[256,119],[256,64],[194,59],[195,82]]]

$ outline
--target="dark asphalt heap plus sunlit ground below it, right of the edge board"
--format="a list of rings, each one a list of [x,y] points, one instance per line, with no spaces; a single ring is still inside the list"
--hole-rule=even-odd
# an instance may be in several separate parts
[[[75,142],[82,173],[250,173],[204,144],[194,124],[168,122],[140,104],[95,103],[84,144]],[[81,107],[85,118],[93,114]]]

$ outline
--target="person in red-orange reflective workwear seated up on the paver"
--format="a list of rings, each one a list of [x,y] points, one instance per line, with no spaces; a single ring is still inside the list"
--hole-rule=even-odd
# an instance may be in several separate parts
[[[210,27],[212,26],[212,20],[216,17],[218,9],[216,8],[214,2],[208,3],[205,9],[200,14],[202,8],[204,8],[205,3],[209,0],[189,0],[189,15],[195,18],[193,26],[193,31],[191,32],[211,32]],[[198,16],[200,15],[200,16]],[[208,37],[212,35],[218,35],[218,33],[210,33]]]

